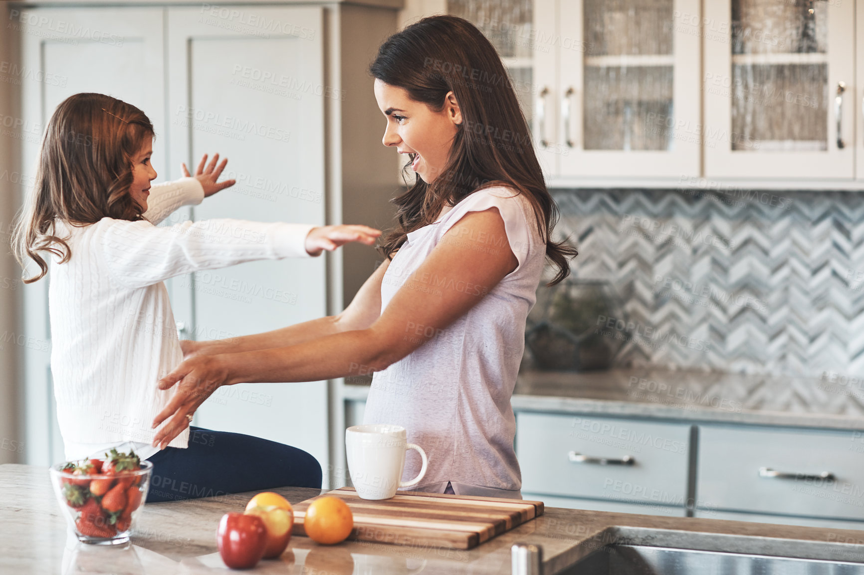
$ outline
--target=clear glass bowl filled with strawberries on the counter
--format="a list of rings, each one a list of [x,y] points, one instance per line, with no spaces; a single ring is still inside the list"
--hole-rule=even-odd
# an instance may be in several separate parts
[[[64,465],[66,463],[51,466],[51,485],[78,540],[98,545],[121,545],[129,541],[132,527],[147,499],[153,464],[142,461],[140,470],[121,471],[116,475],[74,475],[63,471]],[[93,491],[103,495],[94,495]]]

